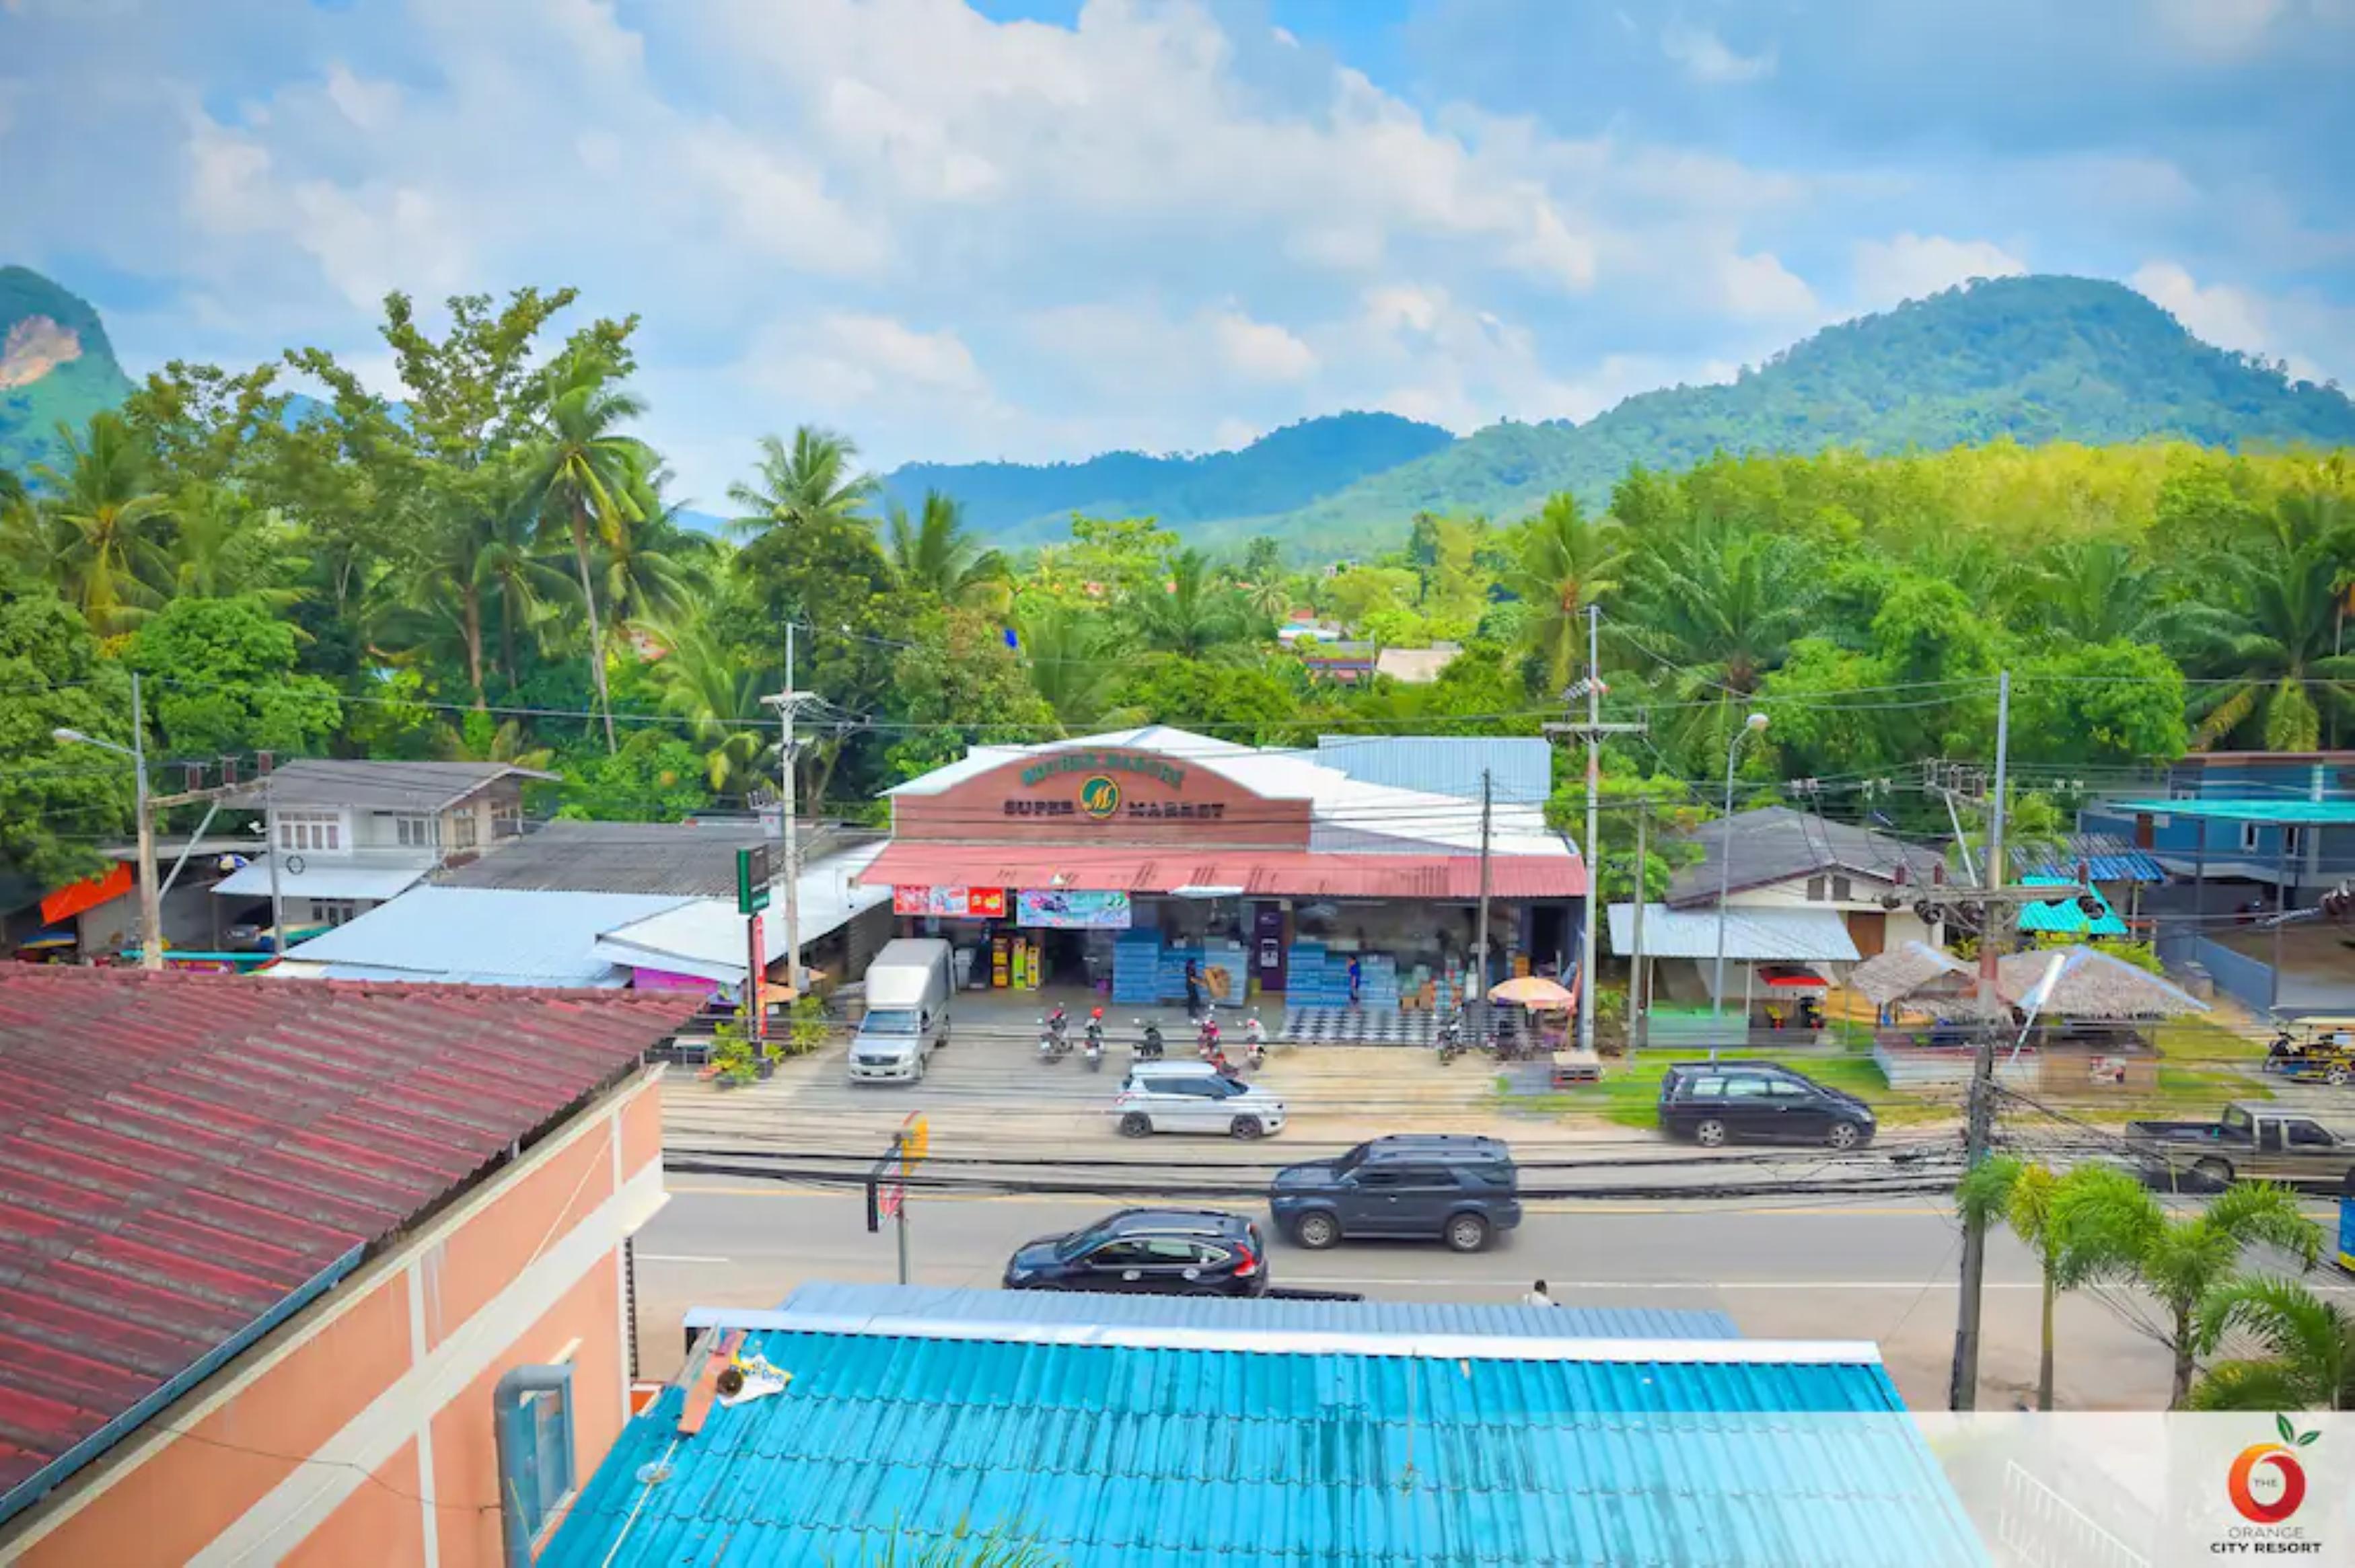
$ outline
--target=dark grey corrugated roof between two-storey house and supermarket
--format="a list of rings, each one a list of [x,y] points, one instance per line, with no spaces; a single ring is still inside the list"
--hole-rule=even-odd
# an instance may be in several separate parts
[[[803,829],[808,866],[857,836]],[[881,833],[876,833],[881,838]],[[768,843],[756,822],[546,822],[464,866],[433,876],[440,888],[513,892],[669,892],[692,899],[735,897],[735,852]],[[772,869],[784,869],[777,850]]]

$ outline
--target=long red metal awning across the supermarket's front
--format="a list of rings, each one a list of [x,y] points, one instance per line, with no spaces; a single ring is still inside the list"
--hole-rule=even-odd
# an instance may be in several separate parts
[[[1081,850],[895,841],[862,878],[897,888],[1079,888],[1236,897],[1477,899],[1479,855],[1316,855],[1309,850]],[[1491,855],[1488,897],[1575,899],[1587,869],[1568,855]]]

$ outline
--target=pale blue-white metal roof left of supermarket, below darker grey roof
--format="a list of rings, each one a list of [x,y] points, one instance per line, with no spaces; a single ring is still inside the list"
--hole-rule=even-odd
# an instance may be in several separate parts
[[[593,986],[615,972],[612,961],[596,954],[596,939],[676,904],[681,899],[645,892],[412,888],[287,949],[287,958],[325,963],[330,979]]]

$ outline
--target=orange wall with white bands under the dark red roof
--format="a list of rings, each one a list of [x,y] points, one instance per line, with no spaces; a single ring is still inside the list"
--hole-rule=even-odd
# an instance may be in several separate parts
[[[570,1361],[575,1474],[629,1415],[622,1241],[662,1205],[655,1076],[148,1422],[0,1540],[31,1568],[497,1568],[490,1389]]]

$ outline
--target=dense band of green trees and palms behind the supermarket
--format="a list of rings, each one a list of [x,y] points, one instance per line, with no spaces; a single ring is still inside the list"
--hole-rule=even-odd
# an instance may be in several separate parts
[[[1924,829],[1915,765],[1985,756],[1997,671],[2016,777],[2054,822],[2185,746],[2355,730],[2341,457],[1707,457],[1510,525],[1399,516],[1401,549],[1293,570],[1269,537],[1215,553],[1137,516],[984,549],[956,497],[893,499],[850,440],[801,428],[744,454],[711,539],[636,433],[636,320],[560,330],[570,306],[455,299],[433,334],[391,297],[400,407],[318,351],[174,363],[0,483],[0,871],[57,881],[122,831],[120,763],[49,730],[127,737],[130,671],[165,760],[513,758],[560,777],[539,810],[629,819],[765,798],[763,697],[791,680],[815,695],[801,798],[860,815],[973,742],[1147,720],[1538,735],[1599,610],[1606,711],[1648,725],[1606,760],[1604,876],[1634,883],[1648,812],[1656,890],[1750,711],[1771,718],[1752,791]],[[1427,685],[1340,683],[1279,643],[1302,617],[1462,652]],[[1580,789],[1552,810],[1575,824]]]

